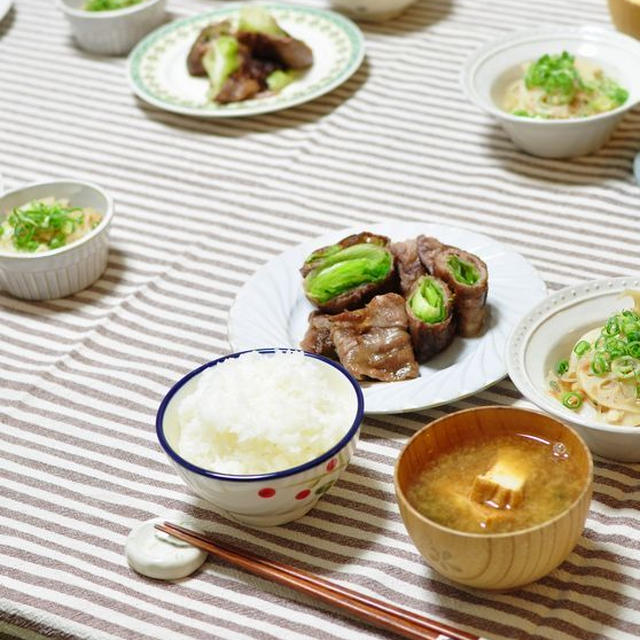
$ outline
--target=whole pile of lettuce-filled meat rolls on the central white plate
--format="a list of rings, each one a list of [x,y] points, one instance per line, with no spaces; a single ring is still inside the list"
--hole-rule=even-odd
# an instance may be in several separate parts
[[[477,336],[484,325],[487,266],[436,238],[392,243],[364,231],[317,249],[300,273],[316,307],[300,346],[357,380],[415,378],[456,334]]]

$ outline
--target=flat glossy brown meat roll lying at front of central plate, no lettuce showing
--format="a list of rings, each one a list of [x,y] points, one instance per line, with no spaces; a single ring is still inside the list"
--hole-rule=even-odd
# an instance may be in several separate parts
[[[364,309],[334,316],[331,338],[340,362],[358,380],[417,377],[407,323],[405,300],[397,293],[376,296]]]

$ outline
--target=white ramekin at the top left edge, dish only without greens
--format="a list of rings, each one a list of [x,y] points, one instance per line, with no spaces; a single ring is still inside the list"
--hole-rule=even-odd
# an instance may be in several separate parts
[[[84,0],[58,0],[78,46],[105,56],[125,55],[164,20],[167,0],[143,0],[117,11],[85,11]]]

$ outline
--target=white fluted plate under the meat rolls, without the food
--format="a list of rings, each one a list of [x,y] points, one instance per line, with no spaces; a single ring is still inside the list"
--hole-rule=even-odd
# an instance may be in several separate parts
[[[229,312],[229,341],[236,351],[278,344],[298,348],[313,310],[302,291],[299,268],[319,247],[365,229],[343,229],[316,238],[274,258],[238,293]],[[420,367],[420,377],[403,382],[363,384],[366,413],[400,413],[434,407],[491,386],[506,373],[504,348],[521,316],[546,296],[536,270],[518,253],[465,229],[417,222],[366,227],[367,231],[405,240],[432,235],[477,254],[489,269],[489,317],[482,335],[456,337],[445,351]],[[259,310],[256,313],[256,310]]]

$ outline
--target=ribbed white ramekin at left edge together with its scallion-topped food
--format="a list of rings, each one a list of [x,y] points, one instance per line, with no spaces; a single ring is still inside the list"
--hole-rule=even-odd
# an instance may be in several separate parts
[[[0,289],[27,300],[86,289],[106,269],[112,217],[113,200],[89,182],[38,182],[2,194]]]

